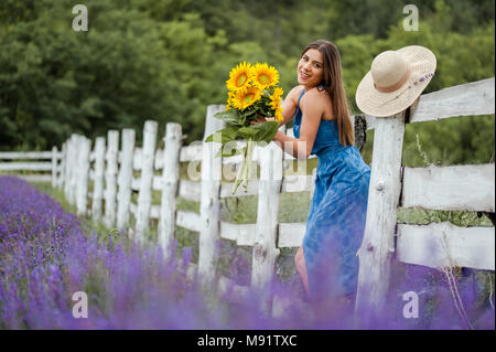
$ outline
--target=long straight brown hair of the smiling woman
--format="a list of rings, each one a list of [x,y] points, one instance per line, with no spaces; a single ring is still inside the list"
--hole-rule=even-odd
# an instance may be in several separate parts
[[[342,68],[339,52],[333,43],[325,40],[317,40],[309,44],[301,56],[303,56],[309,49],[319,50],[324,57],[324,77],[322,78],[320,85],[324,86],[324,89],[331,97],[333,115],[336,117],[339,134],[339,142],[345,147],[347,145],[354,146],[355,134],[353,131],[348,100],[346,98],[343,77],[341,74]]]

